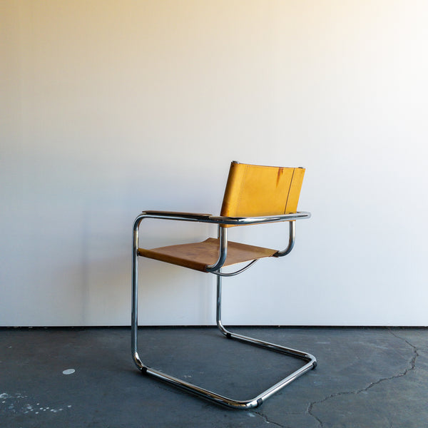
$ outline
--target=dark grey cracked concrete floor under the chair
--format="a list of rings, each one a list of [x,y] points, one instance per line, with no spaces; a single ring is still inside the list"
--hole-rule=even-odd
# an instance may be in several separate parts
[[[128,328],[5,328],[0,427],[428,427],[427,329],[232,330],[310,352],[318,367],[242,411],[141,375]],[[147,365],[239,399],[300,365],[214,327],[144,327],[139,340]]]

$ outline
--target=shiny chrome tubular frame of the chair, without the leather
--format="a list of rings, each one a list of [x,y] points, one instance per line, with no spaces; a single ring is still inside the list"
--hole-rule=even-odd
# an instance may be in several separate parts
[[[303,214],[303,215],[300,215]],[[284,215],[290,216],[290,215]],[[253,223],[270,223],[270,221],[284,221],[284,216],[275,216],[276,219],[281,218],[280,220],[270,220],[270,218],[263,218],[265,221],[259,221],[261,218],[253,218]],[[290,253],[292,250],[292,246],[294,245],[295,240],[295,220],[297,218],[308,218],[310,216],[309,213],[297,213],[293,214],[294,218],[287,218],[290,224],[290,239],[289,245],[285,250],[282,250],[276,254],[277,257],[282,255],[286,255]],[[182,379],[178,379],[177,377],[170,376],[164,372],[160,372],[159,370],[155,370],[152,367],[148,367],[141,362],[140,357],[138,356],[138,230],[143,218],[168,218],[169,220],[184,220],[184,221],[202,221],[204,223],[217,223],[218,224],[218,237],[220,238],[220,251],[218,261],[214,265],[210,265],[210,272],[218,275],[217,276],[217,303],[216,303],[216,322],[220,332],[223,333],[228,339],[239,340],[240,342],[245,342],[250,345],[256,345],[258,347],[263,347],[270,351],[280,352],[285,355],[291,355],[292,357],[300,358],[301,360],[305,360],[305,365],[300,367],[300,369],[292,372],[284,379],[280,380],[276,384],[272,385],[272,387],[266,389],[261,394],[258,394],[257,397],[246,400],[237,400],[231,399],[228,397],[224,397],[223,395],[216,394],[215,392],[209,391],[208,389],[204,389],[202,387],[198,387],[194,384],[190,384],[189,382],[185,382]],[[220,219],[220,220],[218,220]],[[268,220],[266,220],[268,219]],[[227,221],[231,221],[233,223],[226,223]],[[173,384],[176,387],[180,387],[181,389],[185,389],[188,392],[192,392],[193,394],[197,394],[200,397],[204,397],[212,402],[223,404],[228,407],[232,407],[234,409],[251,409],[253,407],[258,407],[263,403],[265,399],[270,397],[275,392],[279,391],[287,384],[292,382],[293,380],[300,377],[302,374],[311,370],[317,366],[317,360],[313,355],[308,354],[307,352],[302,352],[298,350],[294,350],[292,348],[283,347],[281,345],[275,345],[270,342],[265,342],[263,340],[253,339],[253,337],[247,337],[243,335],[238,335],[236,333],[230,332],[227,330],[222,323],[221,320],[221,295],[222,295],[222,276],[223,275],[236,275],[243,270],[253,265],[254,261],[249,265],[245,266],[243,269],[238,270],[237,272],[232,272],[231,274],[223,274],[221,272],[221,266],[223,265],[226,255],[227,255],[227,234],[225,233],[226,228],[223,228],[223,224],[252,224],[248,222],[243,222],[241,218],[213,218],[210,215],[195,215],[188,213],[162,213],[158,211],[146,211],[138,215],[136,220],[133,223],[133,263],[132,263],[132,315],[131,315],[131,352],[133,361],[143,374],[151,375],[156,379],[162,380],[163,382],[167,382],[169,384]]]

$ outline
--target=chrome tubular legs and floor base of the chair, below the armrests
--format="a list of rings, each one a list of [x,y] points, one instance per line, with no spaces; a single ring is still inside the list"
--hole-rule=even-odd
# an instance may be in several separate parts
[[[138,227],[143,220],[144,215],[140,215],[136,218],[136,221],[133,225],[133,259],[132,259],[132,315],[131,315],[131,352],[133,361],[143,374],[148,374],[156,379],[162,380],[163,382],[167,382],[169,384],[173,384],[176,387],[180,387],[181,389],[185,389],[188,392],[192,392],[193,394],[197,394],[200,397],[205,399],[209,399],[212,402],[218,404],[224,404],[225,406],[232,407],[234,409],[251,409],[253,407],[258,407],[263,403],[265,399],[270,397],[275,392],[279,391],[282,387],[289,384],[293,380],[300,377],[302,374],[307,372],[308,370],[315,368],[317,365],[317,360],[313,355],[307,354],[306,352],[301,352],[297,350],[293,350],[287,347],[282,347],[280,345],[275,345],[269,342],[264,342],[263,340],[253,339],[252,337],[247,337],[243,335],[237,335],[233,332],[229,332],[223,327],[221,322],[221,280],[222,277],[217,277],[217,310],[216,310],[216,319],[217,325],[220,331],[226,337],[230,339],[239,340],[240,342],[245,342],[250,345],[257,345],[259,347],[264,347],[267,350],[272,350],[276,352],[281,352],[283,354],[292,355],[293,357],[301,358],[302,360],[307,361],[305,365],[300,367],[299,370],[296,370],[289,376],[280,380],[276,384],[272,385],[269,389],[266,389],[264,392],[259,394],[257,397],[253,399],[247,400],[236,400],[228,397],[224,397],[220,394],[215,394],[215,392],[209,391],[208,389],[204,389],[198,387],[194,384],[190,384],[189,382],[185,382],[184,380],[178,379],[177,377],[170,376],[164,372],[160,372],[151,367],[148,367],[141,362],[140,357],[138,356]]]

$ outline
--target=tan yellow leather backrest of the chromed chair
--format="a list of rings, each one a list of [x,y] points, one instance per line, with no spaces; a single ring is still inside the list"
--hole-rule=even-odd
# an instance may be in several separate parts
[[[232,162],[220,215],[258,217],[295,213],[305,168]]]

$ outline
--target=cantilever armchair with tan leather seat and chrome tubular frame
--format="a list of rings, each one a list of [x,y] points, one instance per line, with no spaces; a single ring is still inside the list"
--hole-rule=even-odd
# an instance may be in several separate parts
[[[310,213],[297,212],[297,201],[302,186],[303,168],[280,168],[272,166],[247,165],[232,162],[226,184],[225,195],[220,216],[197,213],[175,213],[165,211],[143,211],[133,223],[133,272],[132,272],[132,317],[131,317],[131,351],[133,360],[143,374],[163,380],[176,387],[198,394],[219,404],[225,404],[235,409],[250,409],[263,403],[282,387],[289,384],[302,374],[315,368],[317,360],[307,352],[293,350],[288,347],[253,339],[227,330],[221,320],[221,280],[223,276],[238,275],[248,269],[260,258],[280,258],[290,253],[295,243],[295,221],[309,218]],[[200,243],[170,245],[168,247],[146,250],[138,247],[138,230],[145,218],[162,220],[193,221],[213,223],[218,225],[218,238],[208,238]],[[228,228],[238,225],[255,225],[258,223],[273,223],[287,221],[289,225],[289,240],[285,250],[272,250],[253,245],[228,241]],[[239,340],[250,345],[257,345],[267,350],[281,352],[305,361],[298,370],[292,372],[272,387],[260,393],[257,397],[246,400],[223,397],[215,392],[195,386],[189,382],[165,374],[141,362],[137,349],[138,332],[138,256],[160,260],[213,273],[217,276],[217,326],[228,339]],[[235,272],[222,272],[222,267],[248,263]]]

